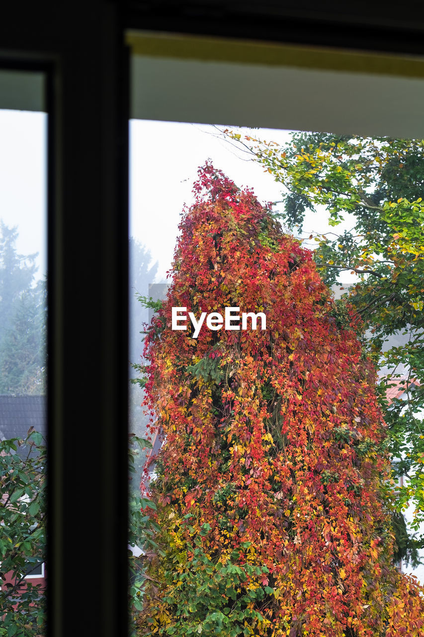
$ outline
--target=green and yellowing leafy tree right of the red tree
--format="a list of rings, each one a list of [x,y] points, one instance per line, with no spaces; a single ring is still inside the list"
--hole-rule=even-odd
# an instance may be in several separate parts
[[[380,399],[395,473],[406,476],[399,511],[413,501],[418,530],[424,521],[424,141],[296,132],[278,145],[224,134],[283,185],[279,216],[288,229],[304,231],[307,210],[327,211],[335,231],[309,235],[316,242],[314,261],[328,285],[343,271],[358,275],[339,304],[355,306],[369,328],[374,362],[390,369]],[[353,227],[337,233],[346,213],[353,215]],[[406,343],[383,352],[386,339],[399,333]],[[404,375],[407,400],[389,406],[386,390]],[[416,547],[424,547],[424,536],[409,543],[409,550]]]

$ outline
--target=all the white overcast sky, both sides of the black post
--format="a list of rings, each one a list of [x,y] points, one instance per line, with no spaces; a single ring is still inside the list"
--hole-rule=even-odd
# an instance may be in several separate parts
[[[46,270],[46,121],[45,113],[0,111],[0,218],[18,226],[20,254],[39,252],[39,276]],[[260,164],[215,133],[208,125],[130,122],[130,233],[159,263],[155,282],[164,280],[171,266],[180,214],[192,203],[197,169],[206,159],[237,185],[253,187],[262,203],[281,198],[281,185]],[[281,143],[289,138],[287,131],[255,134]],[[325,214],[309,215],[306,228],[334,231]],[[350,279],[344,275],[344,281]]]

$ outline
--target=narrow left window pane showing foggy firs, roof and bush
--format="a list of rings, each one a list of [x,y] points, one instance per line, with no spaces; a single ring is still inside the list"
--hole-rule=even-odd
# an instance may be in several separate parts
[[[0,607],[5,634],[28,636],[45,634],[43,85],[41,73],[0,71]]]

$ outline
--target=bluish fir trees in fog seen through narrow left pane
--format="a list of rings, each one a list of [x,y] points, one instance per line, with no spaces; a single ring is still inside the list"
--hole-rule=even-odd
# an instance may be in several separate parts
[[[45,392],[46,285],[38,253],[17,253],[17,227],[0,221],[0,394]]]

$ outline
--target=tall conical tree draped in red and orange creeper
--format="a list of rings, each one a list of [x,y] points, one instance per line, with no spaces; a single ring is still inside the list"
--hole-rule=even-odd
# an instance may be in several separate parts
[[[424,602],[393,566],[386,426],[360,318],[251,190],[208,164],[194,190],[145,341],[164,444],[139,634],[418,637]],[[193,338],[190,323],[171,329],[173,307],[263,312],[266,329],[203,325]]]

